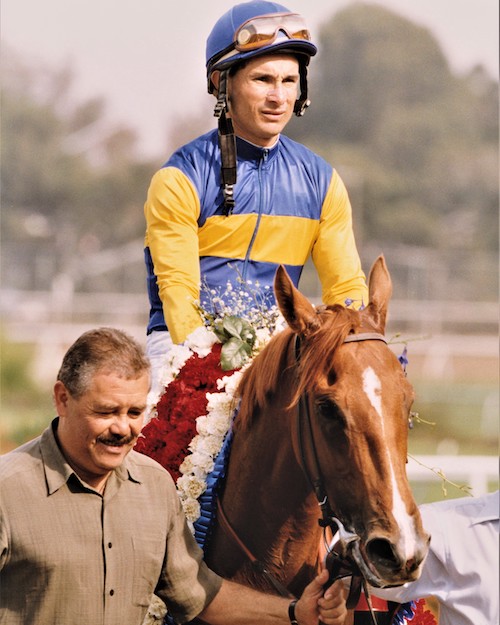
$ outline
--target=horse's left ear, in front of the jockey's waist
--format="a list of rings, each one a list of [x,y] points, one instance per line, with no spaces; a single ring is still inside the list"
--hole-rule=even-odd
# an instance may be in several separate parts
[[[319,327],[316,309],[307,297],[295,288],[283,265],[276,270],[274,292],[283,317],[296,334],[307,335]]]

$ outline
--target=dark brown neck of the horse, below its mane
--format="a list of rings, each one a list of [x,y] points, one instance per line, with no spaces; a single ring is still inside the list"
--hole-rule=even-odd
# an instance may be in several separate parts
[[[294,411],[283,408],[288,395],[276,396],[249,427],[236,429],[221,500],[245,547],[271,571],[286,575],[286,583],[300,578],[298,592],[302,577],[307,582],[316,566],[318,506],[293,448]],[[249,568],[241,547],[220,527],[210,564],[214,559],[227,567],[222,572],[228,576],[238,577],[238,571]]]

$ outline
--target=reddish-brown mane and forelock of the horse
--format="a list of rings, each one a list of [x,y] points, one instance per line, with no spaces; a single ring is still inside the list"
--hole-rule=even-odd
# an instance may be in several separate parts
[[[314,386],[318,377],[327,375],[337,347],[361,325],[359,312],[343,306],[324,306],[316,312],[320,324],[307,338],[300,338],[299,375],[290,406],[306,388]],[[239,427],[250,425],[252,417],[280,388],[287,370],[296,364],[295,355],[290,355],[295,351],[295,336],[288,327],[275,335],[244,372],[238,386]]]

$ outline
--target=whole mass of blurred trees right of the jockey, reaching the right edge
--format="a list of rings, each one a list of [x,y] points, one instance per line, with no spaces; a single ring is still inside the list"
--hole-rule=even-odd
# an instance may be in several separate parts
[[[345,177],[371,241],[497,249],[498,83],[455,75],[432,33],[358,3],[320,32],[291,136]]]

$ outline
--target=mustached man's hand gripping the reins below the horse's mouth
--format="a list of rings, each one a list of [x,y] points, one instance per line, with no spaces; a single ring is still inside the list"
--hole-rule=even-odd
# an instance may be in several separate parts
[[[295,616],[301,625],[316,625],[318,621],[324,625],[344,625],[347,616],[344,586],[337,581],[325,592],[327,582],[328,571],[323,569],[304,589],[295,606]]]

